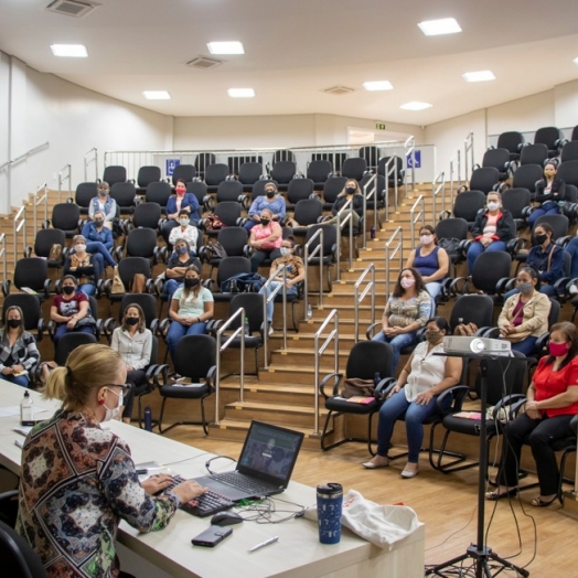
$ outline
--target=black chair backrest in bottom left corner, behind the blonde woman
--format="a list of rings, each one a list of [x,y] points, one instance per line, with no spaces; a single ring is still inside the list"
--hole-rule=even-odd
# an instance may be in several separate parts
[[[39,555],[8,524],[0,522],[0,560],[2,574],[10,578],[49,578]]]

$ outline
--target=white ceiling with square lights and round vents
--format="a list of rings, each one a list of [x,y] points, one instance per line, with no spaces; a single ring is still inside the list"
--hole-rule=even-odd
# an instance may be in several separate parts
[[[577,0],[99,0],[83,19],[49,12],[49,3],[0,0],[0,50],[180,117],[334,114],[427,126],[578,78]],[[417,28],[448,17],[462,33],[427,38]],[[208,71],[186,66],[218,40],[243,42],[245,55]],[[56,58],[54,43],[85,44],[89,56]],[[496,81],[461,77],[481,69]],[[362,87],[382,79],[394,90]],[[335,85],[355,92],[323,93]],[[253,87],[256,97],[229,98],[231,87]],[[172,99],[146,100],[142,90]],[[434,106],[400,110],[409,100]]]

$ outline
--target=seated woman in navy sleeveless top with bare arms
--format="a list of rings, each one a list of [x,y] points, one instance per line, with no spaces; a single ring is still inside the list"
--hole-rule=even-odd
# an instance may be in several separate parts
[[[428,293],[436,299],[441,291],[440,281],[448,276],[450,258],[436,243],[436,229],[424,225],[419,231],[420,245],[407,258],[406,267],[415,267],[421,275]]]

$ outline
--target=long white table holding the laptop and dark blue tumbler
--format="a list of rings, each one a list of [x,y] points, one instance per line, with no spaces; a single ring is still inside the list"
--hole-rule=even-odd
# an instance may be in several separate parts
[[[23,390],[12,384],[0,382],[0,406],[20,403]],[[41,400],[34,395],[34,403],[43,407],[57,407]],[[46,416],[49,414],[45,414]],[[14,440],[22,436],[11,428],[18,424],[18,417],[0,418],[0,463],[18,474],[21,450]],[[136,463],[158,461],[170,464],[174,473],[193,478],[206,473],[205,461],[212,457],[202,450],[163,438],[120,421],[113,421],[113,431],[118,434],[129,446]],[[213,462],[212,469],[216,469]],[[222,468],[227,462],[223,461]],[[291,482],[279,500],[309,506],[315,502],[315,491],[303,484]],[[279,510],[297,510],[283,502],[277,502]],[[246,514],[248,515],[248,514]],[[210,525],[207,518],[176,512],[169,526],[161,532],[139,534],[127,523],[121,522],[118,540],[126,548],[148,563],[176,578],[235,576],[238,578],[279,577],[321,577],[350,578],[355,576],[387,576],[411,578],[424,575],[424,525],[399,542],[392,552],[385,552],[354,535],[346,528],[339,544],[319,543],[317,525],[304,518],[291,520],[282,524],[257,524],[243,522],[232,526],[233,535],[216,548],[202,548],[191,545],[191,538]],[[279,540],[271,546],[248,554],[247,550],[272,536]],[[122,548],[119,548],[122,568],[126,571],[143,576],[159,576],[153,569],[135,569],[135,557],[125,564]]]

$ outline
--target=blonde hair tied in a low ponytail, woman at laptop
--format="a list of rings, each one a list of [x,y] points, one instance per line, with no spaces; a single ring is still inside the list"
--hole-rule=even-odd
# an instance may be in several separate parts
[[[64,367],[56,367],[44,390],[46,399],[61,399],[64,409],[81,411],[98,389],[115,384],[122,357],[108,345],[79,345],[69,355]]]

